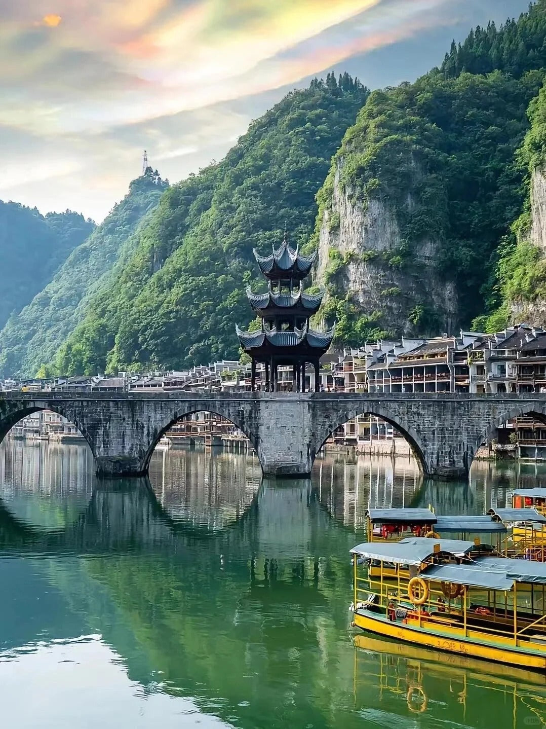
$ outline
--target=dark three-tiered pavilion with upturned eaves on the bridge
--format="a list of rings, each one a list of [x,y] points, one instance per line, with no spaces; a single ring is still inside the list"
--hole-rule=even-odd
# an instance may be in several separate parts
[[[323,294],[306,294],[304,278],[309,274],[316,252],[310,256],[300,254],[288,243],[288,233],[278,249],[263,257],[254,249],[254,257],[261,273],[267,279],[267,292],[254,294],[247,289],[253,311],[261,319],[256,332],[242,332],[239,337],[242,349],[252,360],[252,389],[256,389],[256,363],[263,362],[266,370],[266,390],[277,391],[278,367],[293,368],[293,391],[304,391],[305,369],[314,367],[314,389],[320,384],[320,357],[328,351],[333,339],[333,328],[328,332],[316,332],[309,327],[309,319],[317,313]]]

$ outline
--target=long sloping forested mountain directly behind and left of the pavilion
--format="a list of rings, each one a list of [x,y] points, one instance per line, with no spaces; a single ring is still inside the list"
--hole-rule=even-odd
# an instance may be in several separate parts
[[[314,80],[250,125],[221,163],[173,185],[141,225],[132,255],[91,297],[60,347],[62,373],[238,356],[250,308],[252,249],[305,243],[315,195],[368,90],[347,74]]]

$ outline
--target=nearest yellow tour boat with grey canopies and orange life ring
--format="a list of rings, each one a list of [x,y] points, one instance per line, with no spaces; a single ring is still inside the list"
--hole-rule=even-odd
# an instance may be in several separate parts
[[[476,540],[478,542],[479,540]],[[353,547],[354,624],[474,658],[546,671],[546,564],[491,545],[414,537]],[[379,577],[368,565],[379,565]],[[403,566],[385,580],[383,565]]]

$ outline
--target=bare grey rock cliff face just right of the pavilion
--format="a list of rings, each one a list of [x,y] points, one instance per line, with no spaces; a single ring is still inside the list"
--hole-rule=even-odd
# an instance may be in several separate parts
[[[339,159],[320,225],[317,283],[330,298],[347,297],[389,335],[454,332],[458,297],[453,282],[438,276],[438,241],[430,235],[406,250],[389,199],[343,187],[342,165]],[[415,212],[411,194],[405,206]],[[343,265],[334,271],[336,260]]]

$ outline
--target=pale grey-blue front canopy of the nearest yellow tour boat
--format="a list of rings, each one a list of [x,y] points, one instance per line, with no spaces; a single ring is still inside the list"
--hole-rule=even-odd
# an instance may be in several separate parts
[[[464,539],[427,539],[427,537],[408,537],[400,542],[363,542],[353,547],[351,554],[365,559],[391,564],[420,566],[440,552],[454,557],[464,557],[470,552],[493,552],[491,545],[476,545]]]

